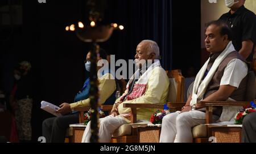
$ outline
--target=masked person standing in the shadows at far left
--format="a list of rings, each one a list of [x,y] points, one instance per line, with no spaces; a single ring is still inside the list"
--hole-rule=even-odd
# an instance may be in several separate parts
[[[32,82],[31,63],[23,61],[14,70],[14,87],[9,102],[15,113],[19,142],[30,142],[32,137]]]

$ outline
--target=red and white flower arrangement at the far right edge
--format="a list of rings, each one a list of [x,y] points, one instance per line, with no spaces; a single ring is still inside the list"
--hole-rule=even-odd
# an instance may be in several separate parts
[[[243,123],[243,118],[245,118],[245,116],[247,114],[256,112],[255,107],[254,106],[243,106],[242,109],[240,109],[240,111],[236,114],[235,119],[235,124],[236,125],[242,125]]]

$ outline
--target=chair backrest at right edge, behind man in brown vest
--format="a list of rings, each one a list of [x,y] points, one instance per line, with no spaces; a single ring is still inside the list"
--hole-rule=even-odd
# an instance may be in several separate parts
[[[254,101],[256,98],[255,93],[256,93],[255,74],[253,71],[250,71],[247,74],[245,101]]]

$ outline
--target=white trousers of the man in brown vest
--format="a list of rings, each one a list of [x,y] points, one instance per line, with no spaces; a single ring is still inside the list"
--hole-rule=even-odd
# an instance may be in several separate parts
[[[192,127],[204,123],[205,113],[198,110],[191,110],[184,113],[178,111],[167,114],[162,121],[159,142],[173,143],[175,140],[178,143],[191,143],[193,142]]]

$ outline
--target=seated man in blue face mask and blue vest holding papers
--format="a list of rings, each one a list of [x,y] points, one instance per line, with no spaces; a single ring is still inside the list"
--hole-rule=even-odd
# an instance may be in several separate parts
[[[72,108],[76,106],[90,106],[90,52],[86,55],[85,60],[85,82],[79,93],[75,96],[74,102],[69,104],[63,102],[60,105],[60,109],[56,110],[57,113],[61,113],[63,116],[48,118],[43,121],[43,136],[46,138],[46,142],[61,143],[65,140],[65,132],[70,124],[79,123],[79,114],[77,112],[72,112]],[[97,62],[100,59],[106,59],[106,53],[104,49],[99,50],[97,54]],[[97,67],[100,70],[101,67]],[[101,104],[114,104],[115,101],[115,91],[116,84],[114,76],[111,74],[110,70],[104,70],[101,72],[101,76],[98,78],[98,88],[100,100],[98,102]]]

